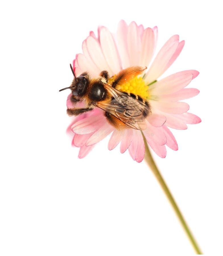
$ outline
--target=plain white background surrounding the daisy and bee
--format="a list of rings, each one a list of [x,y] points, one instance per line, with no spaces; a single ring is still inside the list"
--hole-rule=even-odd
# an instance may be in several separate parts
[[[220,1],[7,1],[1,4],[1,255],[193,255],[144,162],[108,139],[84,159],[65,130],[69,68],[98,25],[158,26],[157,51],[185,47],[165,75],[197,69],[187,100],[202,123],[174,130],[179,150],[154,156],[205,254],[222,253]],[[157,52],[156,51],[156,52]]]

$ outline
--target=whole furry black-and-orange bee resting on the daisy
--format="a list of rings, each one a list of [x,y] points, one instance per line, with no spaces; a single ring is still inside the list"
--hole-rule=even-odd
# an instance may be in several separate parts
[[[86,108],[67,109],[69,116],[80,115],[97,107],[104,110],[107,121],[115,128],[146,128],[145,119],[151,113],[149,103],[139,95],[117,90],[119,85],[140,75],[145,68],[135,66],[123,69],[108,84],[108,71],[102,71],[97,78],[91,78],[87,72],[76,77],[71,64],[70,67],[74,75],[71,86],[59,91],[70,89],[71,102],[85,100]]]

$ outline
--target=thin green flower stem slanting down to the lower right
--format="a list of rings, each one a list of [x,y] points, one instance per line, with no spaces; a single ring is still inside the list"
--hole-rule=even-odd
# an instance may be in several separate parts
[[[188,236],[188,238],[191,242],[191,245],[195,249],[196,254],[203,254],[201,252],[201,249],[199,248],[197,242],[195,241],[195,238],[193,237],[193,234],[191,233],[186,221],[184,220],[183,215],[180,212],[179,207],[177,206],[172,194],[170,193],[170,190],[168,189],[162,175],[160,174],[158,168],[156,167],[156,164],[155,164],[155,162],[154,162],[154,160],[153,160],[153,158],[150,154],[150,150],[148,148],[148,144],[146,142],[146,139],[145,139],[144,135],[143,135],[143,139],[144,139],[145,149],[146,149],[144,160],[146,161],[146,163],[148,164],[148,166],[152,170],[153,174],[155,175],[156,179],[160,183],[160,186],[162,187],[162,189],[163,189],[165,195],[167,196],[170,204],[172,205],[175,213],[177,214],[177,217],[179,218],[179,221],[182,224],[183,229],[185,230],[185,232],[186,232],[186,234],[187,234],[187,236]]]

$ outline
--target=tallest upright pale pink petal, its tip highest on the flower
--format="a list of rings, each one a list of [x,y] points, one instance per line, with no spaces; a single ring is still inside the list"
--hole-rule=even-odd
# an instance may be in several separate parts
[[[118,24],[117,42],[118,42],[118,49],[119,49],[119,54],[121,57],[121,63],[122,63],[123,69],[131,66],[129,61],[128,46],[127,46],[127,33],[128,33],[128,26],[124,20],[121,20]]]

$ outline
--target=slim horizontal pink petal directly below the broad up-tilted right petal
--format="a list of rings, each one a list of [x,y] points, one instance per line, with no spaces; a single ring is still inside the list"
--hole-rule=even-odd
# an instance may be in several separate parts
[[[164,101],[165,100],[170,100],[170,101],[185,100],[185,99],[189,99],[196,96],[197,94],[199,94],[199,92],[200,91],[195,88],[184,88],[172,94],[161,95],[159,96],[159,99]]]

